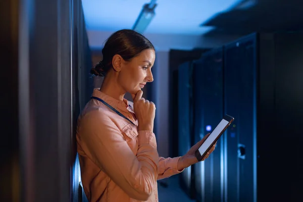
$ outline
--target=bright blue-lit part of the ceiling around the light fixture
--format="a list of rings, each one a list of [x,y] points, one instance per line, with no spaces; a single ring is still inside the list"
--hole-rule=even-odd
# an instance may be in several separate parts
[[[156,16],[144,32],[153,34],[201,35],[213,30],[200,26],[231,11],[243,0],[158,0]],[[244,0],[245,1],[245,0]],[[255,3],[257,0],[250,0]],[[147,0],[82,0],[87,30],[116,31],[131,29]],[[248,4],[252,6],[253,4]],[[241,10],[241,8],[240,8]]]

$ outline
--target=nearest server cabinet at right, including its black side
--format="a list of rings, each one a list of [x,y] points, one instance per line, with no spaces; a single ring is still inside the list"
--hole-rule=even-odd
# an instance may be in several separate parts
[[[224,201],[301,201],[303,35],[251,34],[224,47]],[[300,168],[300,169],[299,169]]]

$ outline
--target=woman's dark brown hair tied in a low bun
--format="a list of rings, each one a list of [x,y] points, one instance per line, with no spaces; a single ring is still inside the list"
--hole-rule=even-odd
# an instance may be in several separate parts
[[[95,76],[106,76],[112,68],[112,59],[116,54],[125,61],[130,61],[145,49],[155,47],[142,34],[130,29],[116,31],[107,39],[102,49],[103,60],[92,68],[90,73]]]

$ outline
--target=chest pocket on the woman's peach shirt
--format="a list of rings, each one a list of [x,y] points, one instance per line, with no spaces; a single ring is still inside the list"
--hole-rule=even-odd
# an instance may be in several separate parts
[[[138,150],[138,131],[137,131],[137,126],[134,126],[132,124],[126,125],[122,129],[122,134],[124,135],[124,138],[130,147],[130,149],[133,151],[134,155],[137,154]]]

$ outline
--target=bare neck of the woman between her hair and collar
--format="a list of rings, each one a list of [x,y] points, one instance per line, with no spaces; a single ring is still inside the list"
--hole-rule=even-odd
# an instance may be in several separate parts
[[[123,100],[126,93],[111,75],[104,78],[100,91],[118,100]]]

